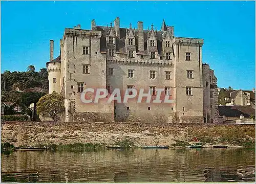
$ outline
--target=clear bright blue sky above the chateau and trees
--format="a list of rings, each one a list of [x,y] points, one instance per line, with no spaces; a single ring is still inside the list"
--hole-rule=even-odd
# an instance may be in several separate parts
[[[159,30],[163,18],[175,36],[203,38],[203,63],[215,70],[219,87],[252,89],[255,86],[254,2],[1,2],[1,72],[36,70],[49,61],[49,40],[54,57],[66,27],[82,29],[110,25]]]

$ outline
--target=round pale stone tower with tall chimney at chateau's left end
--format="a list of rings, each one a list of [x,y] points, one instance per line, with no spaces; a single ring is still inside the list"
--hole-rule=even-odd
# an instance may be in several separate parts
[[[60,93],[60,56],[53,59],[53,40],[50,40],[50,61],[46,63],[49,80],[49,94],[53,91]]]

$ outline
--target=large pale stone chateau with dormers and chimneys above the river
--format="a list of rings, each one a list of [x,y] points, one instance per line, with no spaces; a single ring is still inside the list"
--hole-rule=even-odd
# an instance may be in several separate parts
[[[203,64],[203,39],[175,36],[174,27],[162,22],[160,30],[120,28],[117,17],[110,26],[91,29],[80,25],[66,28],[60,40],[60,55],[53,58],[50,40],[49,94],[65,97],[62,121],[132,121],[177,123],[218,123],[218,87],[214,71]],[[144,89],[151,103],[82,103],[85,88]],[[158,88],[174,103],[153,103]]]

